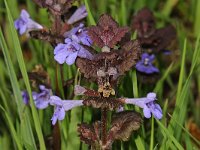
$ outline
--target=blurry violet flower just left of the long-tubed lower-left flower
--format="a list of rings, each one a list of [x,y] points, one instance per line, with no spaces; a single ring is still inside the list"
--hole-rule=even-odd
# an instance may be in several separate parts
[[[33,100],[38,109],[44,109],[50,103],[51,90],[47,89],[44,85],[40,85],[39,89],[40,93],[32,92]]]

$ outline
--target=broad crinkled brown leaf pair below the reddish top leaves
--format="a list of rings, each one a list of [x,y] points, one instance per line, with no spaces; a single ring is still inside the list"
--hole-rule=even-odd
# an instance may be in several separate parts
[[[94,55],[93,60],[77,58],[76,66],[80,68],[80,72],[84,74],[85,78],[93,79],[93,81],[97,81],[97,71],[99,69],[107,68],[107,70],[104,71],[109,72],[108,70],[110,68],[116,68],[117,74],[110,77],[110,81],[115,82],[119,75],[123,75],[136,64],[136,61],[140,57],[140,53],[141,49],[139,42],[137,40],[129,41],[122,46],[121,50],[101,52]],[[105,66],[105,62],[107,66]]]

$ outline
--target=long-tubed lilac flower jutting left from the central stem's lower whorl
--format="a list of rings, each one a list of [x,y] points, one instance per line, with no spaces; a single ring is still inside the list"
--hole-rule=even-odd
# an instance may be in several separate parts
[[[58,96],[51,96],[50,99],[50,104],[55,106],[55,111],[51,118],[53,125],[56,124],[57,120],[65,118],[65,111],[83,105],[82,100],[61,100]]]

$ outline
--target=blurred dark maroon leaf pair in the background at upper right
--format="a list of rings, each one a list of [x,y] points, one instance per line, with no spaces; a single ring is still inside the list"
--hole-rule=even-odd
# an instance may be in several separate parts
[[[134,17],[132,27],[137,31],[137,38],[143,48],[163,50],[176,37],[176,30],[172,25],[156,29],[153,13],[148,8],[141,9]]]

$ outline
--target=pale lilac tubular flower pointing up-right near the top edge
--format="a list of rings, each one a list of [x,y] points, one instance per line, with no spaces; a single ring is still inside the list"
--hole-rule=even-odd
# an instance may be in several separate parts
[[[68,24],[73,24],[87,17],[88,13],[84,5],[80,6],[67,21]]]

